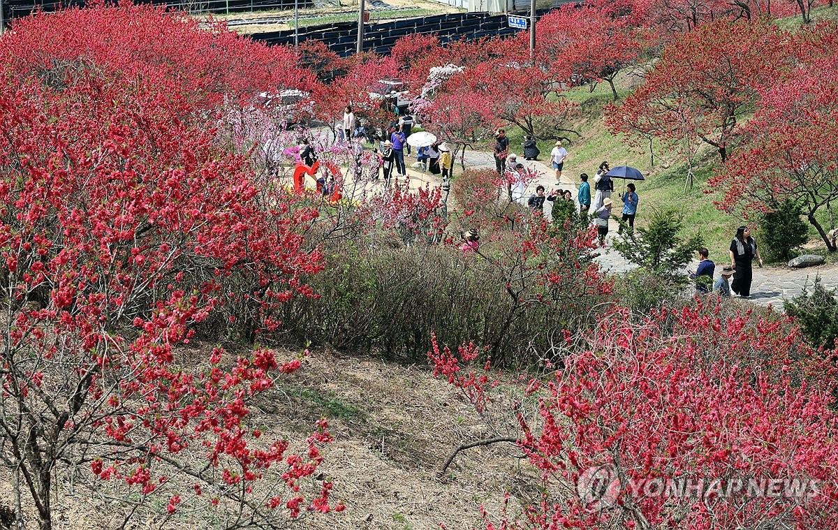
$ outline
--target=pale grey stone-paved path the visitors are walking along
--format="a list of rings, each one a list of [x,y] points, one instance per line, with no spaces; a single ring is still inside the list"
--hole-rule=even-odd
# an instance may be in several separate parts
[[[543,176],[535,179],[525,190],[525,197],[529,197],[535,193],[535,187],[539,184],[543,185],[546,190],[550,191],[553,188],[561,187],[563,190],[572,190],[573,198],[576,199],[578,174],[562,174],[561,186],[556,186],[556,181],[553,179],[553,171],[549,169],[546,164],[541,161],[524,160],[519,157],[521,164],[525,167],[533,169]],[[468,151],[465,154],[465,163],[467,166],[475,168],[492,168],[494,169],[494,157],[492,153],[484,153],[479,151]],[[590,173],[588,173],[590,174]],[[618,195],[615,192],[615,195]],[[617,201],[615,200],[614,210],[617,210]],[[545,215],[550,218],[550,201],[545,202]],[[629,270],[636,268],[633,263],[627,262],[618,252],[614,252],[611,242],[617,234],[618,224],[612,219],[608,227],[608,238],[606,247],[597,250],[596,260],[603,267],[603,269],[611,273],[626,273]],[[715,260],[723,265],[727,262],[727,256],[724,260]],[[686,269],[695,270],[698,262],[690,263]],[[773,305],[776,309],[783,309],[783,300],[792,299],[803,292],[804,288],[811,291],[811,286],[815,282],[815,277],[820,275],[821,282],[825,288],[838,288],[838,264],[823,265],[821,267],[810,268],[786,268],[786,267],[766,267],[753,269],[753,284],[751,286],[751,301],[754,304]]]

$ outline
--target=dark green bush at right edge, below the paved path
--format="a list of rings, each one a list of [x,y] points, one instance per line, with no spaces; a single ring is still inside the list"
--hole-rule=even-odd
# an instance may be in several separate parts
[[[803,293],[784,303],[785,312],[794,316],[812,346],[835,348],[838,337],[838,290],[827,289],[815,278],[812,293]]]

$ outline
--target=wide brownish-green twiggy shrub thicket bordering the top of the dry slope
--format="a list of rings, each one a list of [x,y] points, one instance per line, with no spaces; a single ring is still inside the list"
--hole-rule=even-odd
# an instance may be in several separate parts
[[[484,243],[485,252],[491,246]],[[449,344],[479,337],[497,361],[540,358],[557,329],[587,322],[598,301],[582,279],[585,268],[572,273],[570,261],[566,286],[519,278],[515,300],[504,287],[507,269],[458,248],[343,242],[325,261],[326,269],[307,279],[318,298],[289,301],[283,329],[299,342],[391,359],[423,361],[432,331]]]

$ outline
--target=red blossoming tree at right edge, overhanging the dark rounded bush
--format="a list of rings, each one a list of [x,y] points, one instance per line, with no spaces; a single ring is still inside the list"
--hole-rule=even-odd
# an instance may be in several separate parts
[[[716,205],[749,219],[785,200],[800,205],[832,252],[835,240],[827,232],[835,227],[838,200],[838,60],[830,49],[835,32],[829,23],[795,37],[799,66],[766,87],[742,132],[742,148],[710,179],[722,195]]]

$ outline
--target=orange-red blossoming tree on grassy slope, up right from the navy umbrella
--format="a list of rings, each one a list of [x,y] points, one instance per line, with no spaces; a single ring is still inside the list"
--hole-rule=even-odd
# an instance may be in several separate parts
[[[666,46],[644,85],[608,108],[606,122],[629,137],[701,138],[724,163],[740,120],[787,65],[784,43],[769,23],[702,24]]]

